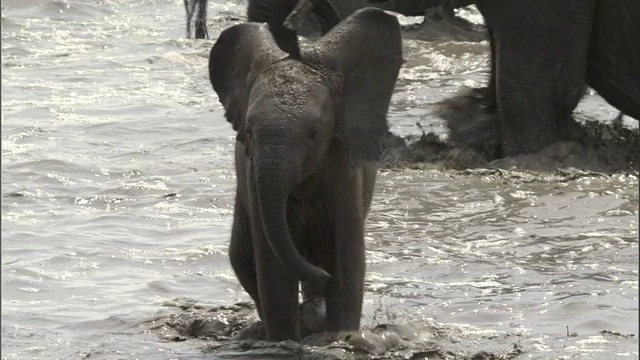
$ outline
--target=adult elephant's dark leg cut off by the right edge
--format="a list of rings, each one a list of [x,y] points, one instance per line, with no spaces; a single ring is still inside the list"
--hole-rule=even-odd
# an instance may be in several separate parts
[[[599,1],[587,83],[625,114],[640,120],[640,2]]]

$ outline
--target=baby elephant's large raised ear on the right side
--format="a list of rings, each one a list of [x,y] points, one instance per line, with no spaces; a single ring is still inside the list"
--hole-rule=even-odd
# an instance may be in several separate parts
[[[354,166],[378,161],[389,127],[387,111],[402,66],[402,35],[395,16],[356,11],[308,52],[342,76],[340,126]]]

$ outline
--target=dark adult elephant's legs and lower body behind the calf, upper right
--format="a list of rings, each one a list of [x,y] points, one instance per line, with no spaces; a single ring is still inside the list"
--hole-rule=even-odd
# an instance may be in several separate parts
[[[479,0],[477,7],[491,38],[500,156],[570,138],[587,85],[640,119],[640,2]]]

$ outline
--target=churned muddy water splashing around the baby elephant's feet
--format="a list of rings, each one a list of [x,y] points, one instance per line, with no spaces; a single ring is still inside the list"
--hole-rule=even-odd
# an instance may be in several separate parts
[[[491,333],[481,336],[462,327],[426,324],[379,324],[357,332],[317,333],[301,343],[234,340],[255,323],[250,303],[225,306],[177,299],[165,306],[177,313],[155,318],[148,332],[163,341],[200,340],[203,353],[221,359],[514,359],[523,353],[513,342],[517,335]],[[488,343],[487,343],[488,342]],[[484,348],[484,349],[482,349]],[[472,349],[472,350],[470,350]]]

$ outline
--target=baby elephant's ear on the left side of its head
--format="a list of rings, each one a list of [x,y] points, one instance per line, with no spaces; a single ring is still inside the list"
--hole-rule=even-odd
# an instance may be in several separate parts
[[[247,115],[249,82],[254,74],[286,56],[271,36],[267,25],[245,23],[220,33],[209,55],[209,80],[225,109],[225,117],[244,142],[242,131]]]

